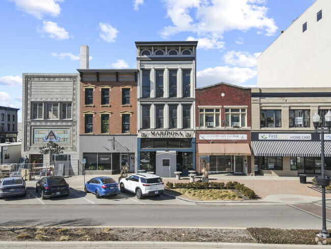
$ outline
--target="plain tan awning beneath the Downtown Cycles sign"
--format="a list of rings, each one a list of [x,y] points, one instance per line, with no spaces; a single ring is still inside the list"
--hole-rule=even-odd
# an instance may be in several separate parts
[[[212,156],[251,156],[248,143],[199,143],[199,155]]]

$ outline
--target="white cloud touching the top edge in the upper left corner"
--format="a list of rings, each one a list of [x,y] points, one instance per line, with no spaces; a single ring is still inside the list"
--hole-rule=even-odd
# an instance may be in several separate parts
[[[44,15],[59,16],[61,7],[58,3],[63,0],[11,0],[11,2],[15,3],[18,10],[42,19]]]

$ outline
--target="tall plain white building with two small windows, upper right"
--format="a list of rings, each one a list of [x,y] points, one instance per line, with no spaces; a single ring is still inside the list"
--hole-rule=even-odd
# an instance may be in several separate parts
[[[258,87],[329,87],[331,1],[317,0],[258,57]]]

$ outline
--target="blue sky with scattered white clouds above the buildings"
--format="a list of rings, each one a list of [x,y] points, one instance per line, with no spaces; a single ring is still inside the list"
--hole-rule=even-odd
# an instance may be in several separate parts
[[[198,40],[197,87],[255,87],[256,58],[314,1],[1,0],[0,106],[22,108],[24,72],[77,73],[80,45],[91,69],[136,68],[135,41]]]

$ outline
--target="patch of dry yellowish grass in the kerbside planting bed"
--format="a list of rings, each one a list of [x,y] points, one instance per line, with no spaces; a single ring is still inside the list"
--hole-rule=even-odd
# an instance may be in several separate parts
[[[242,201],[240,195],[231,189],[175,188],[174,191],[201,201]]]

